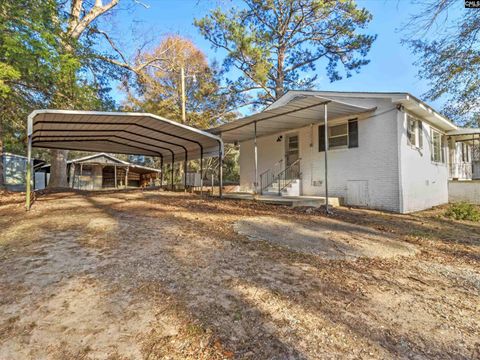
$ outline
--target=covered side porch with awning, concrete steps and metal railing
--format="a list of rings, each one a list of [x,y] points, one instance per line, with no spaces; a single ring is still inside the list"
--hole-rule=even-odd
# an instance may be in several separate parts
[[[243,154],[240,193],[227,196],[290,206],[339,205],[343,200],[337,185],[332,193],[328,187],[329,152],[333,147],[357,147],[353,135],[358,134],[358,120],[376,110],[374,104],[366,105],[302,94],[214,129],[225,142],[239,144]],[[319,149],[321,159],[312,160],[314,144],[320,143],[325,144]]]

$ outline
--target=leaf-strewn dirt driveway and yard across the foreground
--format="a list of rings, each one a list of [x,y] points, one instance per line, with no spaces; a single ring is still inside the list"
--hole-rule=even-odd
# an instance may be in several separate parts
[[[326,218],[132,191],[48,194],[26,213],[22,200],[0,194],[2,360],[480,358],[480,225],[442,209]],[[412,251],[328,257],[235,231],[272,217]]]

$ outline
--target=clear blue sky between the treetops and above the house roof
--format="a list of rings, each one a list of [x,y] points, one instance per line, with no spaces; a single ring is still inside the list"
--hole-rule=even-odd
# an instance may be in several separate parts
[[[417,77],[415,57],[407,46],[401,44],[402,38],[407,36],[403,28],[409,16],[419,9],[409,0],[359,0],[357,3],[373,15],[366,29],[369,34],[377,34],[367,57],[370,63],[362,67],[359,74],[333,83],[325,76],[325,69],[317,67],[319,79],[315,88],[324,91],[409,92],[421,97],[428,90],[428,84]],[[236,0],[137,0],[129,10],[117,11],[105,25],[110,27],[110,33],[116,34],[116,41],[129,55],[146,41],[155,44],[162,36],[179,34],[190,38],[211,61],[222,61],[224,53],[211,48],[193,21],[218,6],[226,10],[236,4]],[[121,102],[122,93],[114,89],[113,97]],[[438,100],[430,105],[440,109],[443,103]]]

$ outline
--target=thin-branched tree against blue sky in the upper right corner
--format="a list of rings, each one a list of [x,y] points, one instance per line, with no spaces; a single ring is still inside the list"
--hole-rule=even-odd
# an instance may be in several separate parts
[[[480,13],[456,0],[418,3],[421,11],[405,27],[404,43],[417,55],[419,77],[429,83],[423,97],[445,99],[444,114],[459,125],[478,126]]]

